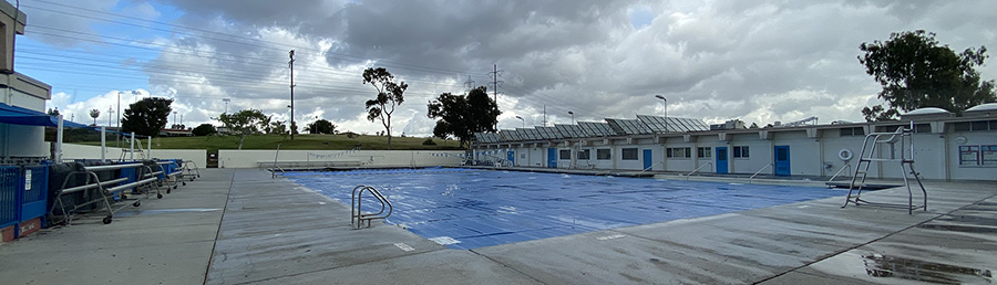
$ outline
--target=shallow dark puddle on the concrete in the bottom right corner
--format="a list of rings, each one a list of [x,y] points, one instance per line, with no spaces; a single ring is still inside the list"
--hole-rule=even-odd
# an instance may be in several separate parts
[[[990,270],[970,268],[934,262],[864,254],[865,273],[873,277],[893,277],[938,284],[993,283]]]

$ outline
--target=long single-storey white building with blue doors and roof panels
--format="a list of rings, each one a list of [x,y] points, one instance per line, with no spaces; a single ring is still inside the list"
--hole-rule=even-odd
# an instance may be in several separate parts
[[[867,134],[912,126],[914,157],[923,178],[997,180],[993,175],[997,171],[997,103],[975,106],[962,116],[923,108],[892,122],[816,124],[812,118],[763,128],[711,127],[700,119],[637,115],[636,119],[475,134],[472,148],[515,151],[518,159],[512,165],[516,167],[831,177],[857,165]],[[881,152],[875,155],[888,156]],[[903,172],[898,167],[877,166],[870,169],[870,177],[902,178]]]

